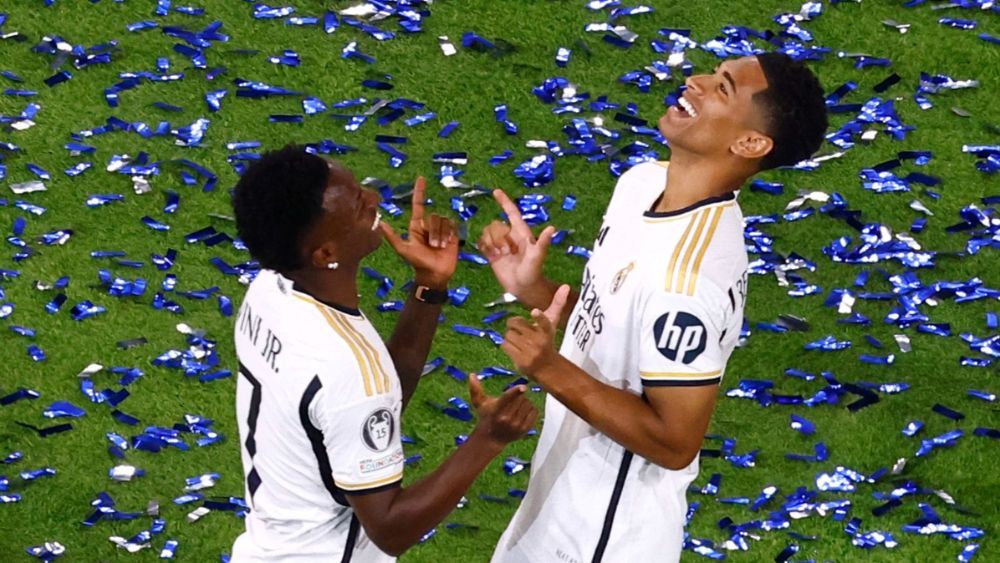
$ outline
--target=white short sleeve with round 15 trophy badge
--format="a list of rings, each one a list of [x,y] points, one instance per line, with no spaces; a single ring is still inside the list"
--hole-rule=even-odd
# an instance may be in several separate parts
[[[348,405],[345,399],[335,390],[322,390],[310,408],[334,483],[346,494],[395,486],[403,478],[402,404],[388,393]]]

